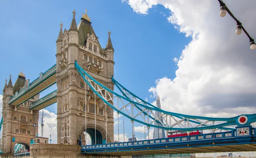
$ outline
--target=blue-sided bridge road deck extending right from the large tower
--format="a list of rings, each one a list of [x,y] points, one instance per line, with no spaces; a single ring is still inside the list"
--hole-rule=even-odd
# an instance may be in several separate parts
[[[234,130],[177,138],[87,145],[81,147],[81,153],[99,155],[162,155],[256,151],[256,131],[255,128],[251,128],[251,130],[252,132],[247,136],[236,136]]]

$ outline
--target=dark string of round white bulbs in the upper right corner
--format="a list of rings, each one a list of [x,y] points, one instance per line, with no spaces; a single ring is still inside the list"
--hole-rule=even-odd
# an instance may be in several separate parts
[[[248,32],[244,29],[244,26],[242,26],[242,23],[232,14],[232,12],[227,8],[226,4],[222,1],[222,0],[218,0],[220,3],[220,16],[224,17],[226,16],[227,12],[228,14],[230,14],[230,16],[236,20],[236,34],[239,35],[241,34],[242,30],[244,31],[244,33],[247,35],[247,37],[250,40],[250,49],[254,50],[256,49],[256,44],[253,40],[252,37],[250,37],[250,35],[248,34]]]

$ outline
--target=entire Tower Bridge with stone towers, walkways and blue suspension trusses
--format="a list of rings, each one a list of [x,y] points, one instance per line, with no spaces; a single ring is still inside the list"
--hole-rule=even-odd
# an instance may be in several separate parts
[[[233,118],[192,116],[168,112],[144,101],[113,77],[111,32],[108,32],[106,48],[102,48],[87,11],[78,26],[75,16],[74,10],[69,30],[63,32],[60,24],[55,65],[31,83],[23,72],[14,86],[11,75],[8,84],[6,80],[0,124],[4,153],[13,153],[15,144],[25,144],[29,149],[31,140],[38,134],[38,110],[56,102],[57,142],[80,145],[81,153],[150,155],[255,151],[256,131],[251,124],[256,122],[256,114]],[[40,92],[55,83],[57,90],[39,98]],[[118,116],[131,120],[133,134],[134,122],[137,122],[145,126],[148,138],[150,127],[158,129],[155,131],[161,131],[162,135],[169,130],[185,131],[187,135],[114,143],[113,110]],[[206,131],[206,134],[189,135],[195,130]],[[92,145],[86,145],[84,132],[90,135]]]

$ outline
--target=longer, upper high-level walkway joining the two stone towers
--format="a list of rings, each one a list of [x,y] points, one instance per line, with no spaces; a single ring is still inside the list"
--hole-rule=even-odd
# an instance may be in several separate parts
[[[46,72],[41,73],[40,76],[31,83],[25,83],[23,89],[16,92],[12,98],[10,98],[9,104],[13,106],[19,106],[24,101],[32,98],[38,93],[47,89],[56,83],[56,64],[48,69]]]

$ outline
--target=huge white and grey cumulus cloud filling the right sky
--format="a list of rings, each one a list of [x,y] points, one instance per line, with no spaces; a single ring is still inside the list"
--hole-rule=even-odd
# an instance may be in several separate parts
[[[167,20],[180,33],[192,37],[184,46],[175,78],[159,78],[149,89],[162,98],[162,109],[189,115],[232,117],[256,111],[256,52],[242,33],[236,35],[236,22],[227,14],[219,16],[219,3],[212,0],[122,0],[138,14],[163,5]],[[241,3],[224,0],[256,37],[255,0]],[[170,52],[171,53],[171,52]],[[167,74],[166,74],[167,75]]]

